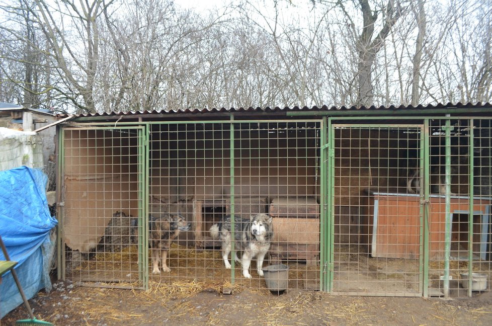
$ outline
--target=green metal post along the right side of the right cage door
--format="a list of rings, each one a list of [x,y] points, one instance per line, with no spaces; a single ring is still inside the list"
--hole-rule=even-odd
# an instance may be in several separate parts
[[[424,207],[421,210],[421,226],[423,225],[424,228],[421,228],[421,235],[423,235],[422,242],[423,242],[423,252],[422,252],[422,257],[423,257],[423,263],[422,263],[422,278],[423,278],[423,295],[425,298],[429,297],[429,247],[430,247],[430,234],[429,234],[429,218],[430,218],[430,204],[429,204],[429,171],[430,171],[430,135],[429,135],[429,119],[424,120],[424,130],[423,130],[423,135],[421,137],[422,145],[421,145],[421,153],[422,153],[422,171],[423,171],[423,185],[421,187],[424,192],[424,198],[421,198],[421,200],[424,200]]]

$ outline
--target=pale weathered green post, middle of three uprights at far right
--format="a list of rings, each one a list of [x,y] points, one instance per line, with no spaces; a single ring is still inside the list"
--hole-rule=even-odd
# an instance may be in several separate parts
[[[445,126],[445,231],[444,231],[444,297],[449,297],[449,260],[451,256],[451,120],[446,119]]]

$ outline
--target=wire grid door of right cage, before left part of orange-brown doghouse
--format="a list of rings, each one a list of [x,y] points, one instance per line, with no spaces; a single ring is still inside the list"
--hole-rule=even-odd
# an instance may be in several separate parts
[[[332,292],[422,295],[419,125],[332,125]]]

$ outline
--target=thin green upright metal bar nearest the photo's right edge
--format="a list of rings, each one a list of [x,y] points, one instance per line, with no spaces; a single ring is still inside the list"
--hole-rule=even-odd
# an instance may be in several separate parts
[[[472,271],[473,271],[473,119],[468,121],[470,132],[468,133],[468,296],[471,297]],[[481,222],[481,221],[480,221]],[[480,239],[481,241],[481,239]]]

